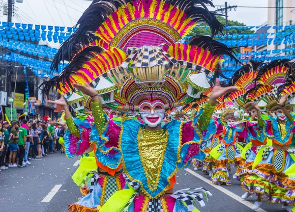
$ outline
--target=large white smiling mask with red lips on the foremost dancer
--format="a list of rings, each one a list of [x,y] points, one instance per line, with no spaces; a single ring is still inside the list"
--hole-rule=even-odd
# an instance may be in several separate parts
[[[161,124],[165,115],[165,105],[161,101],[146,101],[140,104],[139,113],[148,127],[154,128]]]

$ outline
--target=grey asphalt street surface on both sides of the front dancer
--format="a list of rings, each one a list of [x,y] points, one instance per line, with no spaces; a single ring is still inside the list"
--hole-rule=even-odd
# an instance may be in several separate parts
[[[0,172],[0,212],[67,212],[67,205],[76,202],[81,196],[79,187],[71,176],[77,169],[78,157],[67,159],[60,153],[48,155],[43,159],[31,160],[27,168],[10,168]],[[177,173],[175,190],[205,187],[212,193],[206,207],[201,212],[253,212],[251,209],[255,196],[248,201],[239,197],[244,193],[237,180],[233,185],[211,185],[209,176],[202,171],[180,170]],[[233,168],[232,173],[235,169]],[[196,174],[195,174],[196,173]],[[195,176],[197,175],[197,177]],[[201,176],[200,178],[198,178]],[[232,175],[231,175],[232,176]],[[57,186],[58,192],[48,197]],[[42,202],[43,200],[43,202]],[[49,202],[44,202],[49,201]],[[257,212],[280,212],[281,206],[263,201]]]

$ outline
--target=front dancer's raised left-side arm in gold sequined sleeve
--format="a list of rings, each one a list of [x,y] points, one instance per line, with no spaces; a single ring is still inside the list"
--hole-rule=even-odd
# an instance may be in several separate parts
[[[91,106],[92,106],[92,114],[94,117],[94,123],[97,129],[97,132],[101,134],[106,125],[106,118],[104,116],[104,112],[102,110],[102,106],[99,101],[97,92],[89,84],[85,84],[84,86],[81,84],[74,83],[73,86],[77,88],[79,91],[81,91],[82,93],[92,97]]]

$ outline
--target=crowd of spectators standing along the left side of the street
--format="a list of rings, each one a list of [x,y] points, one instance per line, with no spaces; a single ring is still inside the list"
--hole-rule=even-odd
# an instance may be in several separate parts
[[[66,126],[48,118],[0,122],[0,171],[27,167],[31,160],[60,151],[64,154],[63,136]]]

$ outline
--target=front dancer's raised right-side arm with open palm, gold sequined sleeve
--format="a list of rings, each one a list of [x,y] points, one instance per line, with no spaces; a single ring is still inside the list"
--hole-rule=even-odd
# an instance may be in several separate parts
[[[208,128],[208,124],[217,104],[217,99],[224,94],[237,90],[238,88],[235,86],[221,87],[219,78],[216,79],[216,84],[213,87],[212,94],[209,97],[209,102],[205,105],[204,111],[198,118],[197,126],[200,132],[203,132]]]

